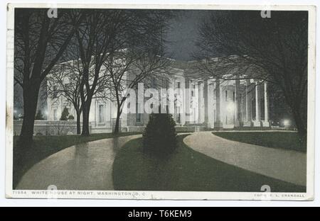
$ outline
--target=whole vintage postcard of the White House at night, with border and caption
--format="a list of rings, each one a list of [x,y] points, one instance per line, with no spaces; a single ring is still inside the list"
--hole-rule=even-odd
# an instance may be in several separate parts
[[[9,4],[6,197],[313,200],[315,18]]]

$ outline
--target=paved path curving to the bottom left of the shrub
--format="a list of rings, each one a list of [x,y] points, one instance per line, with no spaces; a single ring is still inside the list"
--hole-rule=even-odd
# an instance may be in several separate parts
[[[134,135],[97,140],[64,149],[33,166],[18,183],[20,190],[113,190],[112,164],[117,151]]]

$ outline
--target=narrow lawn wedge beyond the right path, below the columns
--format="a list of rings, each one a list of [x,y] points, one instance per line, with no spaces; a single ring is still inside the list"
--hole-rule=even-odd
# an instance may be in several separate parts
[[[262,147],[306,152],[306,144],[300,142],[297,132],[213,132],[213,134],[228,140]]]

